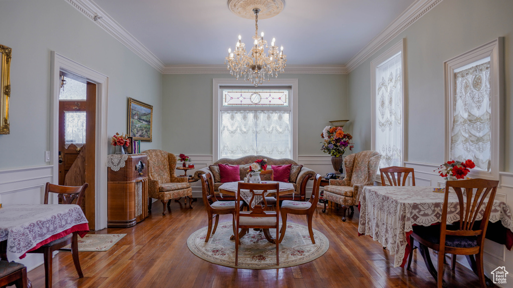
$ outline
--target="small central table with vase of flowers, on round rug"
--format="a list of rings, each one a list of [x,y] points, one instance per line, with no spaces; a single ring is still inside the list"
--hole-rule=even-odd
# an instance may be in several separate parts
[[[226,182],[226,183],[221,184],[221,186],[219,187],[220,197],[222,198],[223,194],[226,194],[226,195],[230,195],[230,196],[235,196],[235,198],[236,198],[240,182],[242,182],[242,181]],[[267,193],[265,193],[265,196],[273,196],[273,195],[277,195],[277,194],[278,195],[292,194],[292,199],[294,198],[293,197],[294,186],[292,183],[279,182],[279,181],[262,181],[261,183],[262,184],[279,183],[279,191],[269,190],[269,191],[267,191]],[[251,196],[252,196],[252,194],[251,194],[251,192],[249,192],[249,190],[244,190],[244,189],[241,190],[241,199],[243,199],[244,202],[246,202],[246,204],[251,205],[251,208],[253,208],[257,203],[255,202],[254,199],[253,199],[253,202],[250,203]],[[241,231],[239,232],[239,238],[246,235],[247,232],[248,232],[247,229],[241,229]],[[269,233],[269,229],[263,229],[263,232],[264,232],[264,236],[267,239],[267,241],[274,244],[275,239],[272,238],[271,234]],[[230,239],[232,239],[232,240],[235,239],[235,235],[232,235]]]

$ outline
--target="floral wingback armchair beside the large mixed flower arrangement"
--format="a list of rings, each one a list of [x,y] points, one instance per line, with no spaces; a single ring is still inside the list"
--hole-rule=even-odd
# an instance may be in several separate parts
[[[330,179],[324,187],[324,210],[326,200],[342,205],[342,221],[346,220],[347,208],[358,204],[359,194],[364,186],[373,186],[378,172],[381,154],[376,151],[362,151],[348,155],[344,159],[346,176],[344,179]]]

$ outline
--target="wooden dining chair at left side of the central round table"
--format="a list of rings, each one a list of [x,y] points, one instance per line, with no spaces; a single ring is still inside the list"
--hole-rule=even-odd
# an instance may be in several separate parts
[[[235,233],[235,210],[241,209],[242,202],[239,201],[239,205],[237,205],[236,201],[218,201],[218,199],[215,198],[213,179],[210,173],[200,175],[200,179],[203,188],[203,203],[205,204],[205,210],[208,216],[207,238],[205,238],[205,242],[208,242],[210,232],[214,234],[215,230],[218,228],[219,215],[232,214],[233,235],[237,235]],[[212,231],[213,218],[215,218],[215,223],[214,230]]]

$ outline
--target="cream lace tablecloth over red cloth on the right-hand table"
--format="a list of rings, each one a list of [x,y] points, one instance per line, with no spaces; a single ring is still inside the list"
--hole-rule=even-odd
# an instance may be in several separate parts
[[[412,225],[429,226],[440,222],[444,193],[433,187],[368,186],[360,193],[360,223],[358,233],[369,235],[395,254],[394,267],[404,265]],[[456,193],[449,194],[447,223],[460,219]],[[478,219],[483,218],[483,205]],[[506,203],[494,201],[490,222],[501,221],[513,232],[513,217]]]

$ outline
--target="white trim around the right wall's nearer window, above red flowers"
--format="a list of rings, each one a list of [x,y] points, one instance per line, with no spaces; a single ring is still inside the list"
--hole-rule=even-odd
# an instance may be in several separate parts
[[[490,57],[490,171],[470,170],[470,177],[498,179],[504,162],[504,37],[498,37],[484,45],[467,51],[444,62],[445,86],[445,153],[444,161],[450,157],[450,135],[452,133],[452,98],[455,89],[455,70]]]

